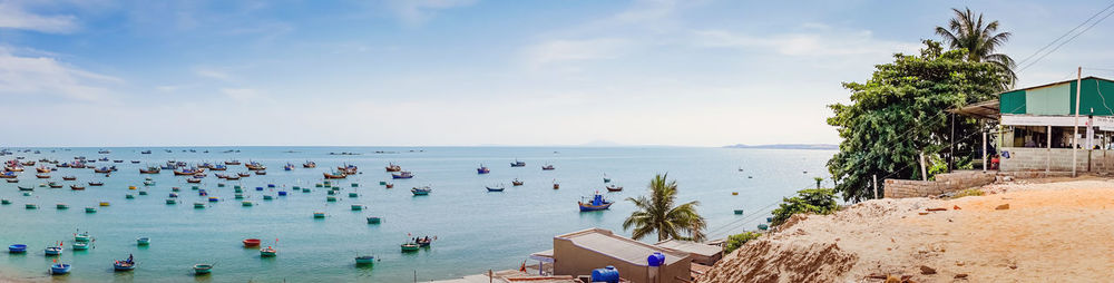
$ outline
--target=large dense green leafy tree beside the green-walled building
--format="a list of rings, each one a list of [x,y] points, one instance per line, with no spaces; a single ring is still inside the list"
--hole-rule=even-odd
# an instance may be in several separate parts
[[[834,116],[828,125],[843,140],[828,170],[844,201],[873,197],[873,175],[879,180],[919,178],[919,155],[938,155],[952,140],[957,163],[970,162],[973,155],[959,153],[977,150],[981,139],[974,137],[993,127],[954,116],[952,136],[947,110],[993,99],[1004,81],[998,66],[966,60],[966,49],[944,51],[937,41],[924,43],[918,56],[897,53],[893,62],[874,66],[866,82],[843,82],[851,103],[829,105]]]

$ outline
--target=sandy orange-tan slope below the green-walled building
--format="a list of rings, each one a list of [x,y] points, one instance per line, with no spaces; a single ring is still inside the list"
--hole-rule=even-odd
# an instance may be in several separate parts
[[[981,189],[988,194],[878,199],[797,217],[700,281],[883,281],[874,274],[909,282],[1114,282],[1114,179]]]

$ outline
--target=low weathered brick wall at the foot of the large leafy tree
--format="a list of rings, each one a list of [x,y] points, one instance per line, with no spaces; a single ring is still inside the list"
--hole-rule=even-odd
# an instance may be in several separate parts
[[[964,170],[936,175],[936,180],[886,179],[886,198],[922,197],[984,186],[997,178],[994,172]]]

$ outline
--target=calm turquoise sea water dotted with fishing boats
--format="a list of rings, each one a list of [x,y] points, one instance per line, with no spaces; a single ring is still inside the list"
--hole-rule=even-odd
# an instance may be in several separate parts
[[[12,199],[11,205],[0,206],[0,243],[28,245],[23,255],[0,253],[0,273],[4,277],[41,279],[69,282],[304,282],[304,281],[378,281],[409,282],[453,279],[487,270],[516,269],[527,256],[551,248],[553,236],[589,227],[603,227],[624,235],[622,222],[633,211],[623,198],[645,194],[645,186],[656,173],[668,173],[680,184],[678,201],[700,201],[700,212],[709,219],[712,236],[753,230],[764,222],[769,205],[794,191],[814,186],[815,176],[827,177],[824,163],[834,154],[828,150],[730,149],[730,148],[550,148],[550,147],[237,147],[240,153],[222,153],[228,147],[194,147],[197,153],[183,153],[186,148],[109,148],[111,154],[99,155],[98,148],[38,148],[41,154],[17,153],[28,160],[40,158],[72,160],[74,156],[90,159],[107,156],[124,159],[124,164],[95,163],[97,166],[117,166],[120,170],[111,177],[94,174],[91,169],[59,168],[52,179],[67,184],[66,188],[36,187],[32,196],[22,196],[16,184],[0,183],[0,197]],[[139,152],[152,149],[150,155]],[[423,152],[409,152],[420,149]],[[50,153],[50,150],[56,150]],[[209,150],[209,153],[202,153]],[[293,150],[295,153],[286,153]],[[372,154],[375,150],[387,154]],[[363,153],[355,156],[329,155],[330,152]],[[393,153],[392,153],[393,152]],[[13,156],[4,156],[11,159]],[[510,162],[520,159],[526,167],[511,168]],[[229,159],[256,160],[267,166],[267,175],[241,180],[219,180],[209,176],[199,184],[211,196],[222,201],[196,209],[195,202],[205,202],[186,177],[176,177],[169,170],[159,175],[139,175],[138,168],[174,159],[221,163]],[[143,160],[130,164],[129,160]],[[314,160],[317,168],[302,168],[305,160]],[[284,172],[286,163],[299,165]],[[390,179],[383,170],[394,162],[416,174],[413,179]],[[322,182],[322,173],[342,164],[360,167],[362,174],[344,180],[334,180],[342,189],[339,201],[325,201],[326,189],[313,188],[312,193],[290,193],[277,196],[277,189],[310,186]],[[491,168],[487,175],[477,175],[476,167],[485,164]],[[556,170],[543,172],[540,166],[553,164]],[[243,166],[229,166],[226,174],[245,172]],[[739,172],[743,168],[744,172]],[[35,178],[32,167],[20,176],[19,185],[46,183]],[[807,173],[805,173],[807,172]],[[623,192],[606,193],[616,201],[609,211],[579,213],[576,202],[580,196],[603,191],[603,176],[625,187]],[[77,183],[102,180],[102,187],[70,191],[61,176],[77,176]],[[747,178],[753,176],[753,178]],[[156,186],[145,187],[143,179],[153,177]],[[526,182],[512,187],[515,178]],[[560,189],[553,189],[553,180]],[[393,183],[394,188],[379,186],[380,180]],[[225,182],[227,187],[217,187]],[[350,187],[358,183],[359,187]],[[483,187],[502,183],[502,193],[488,193]],[[243,207],[233,199],[233,185],[242,185],[246,199],[255,206]],[[256,192],[275,184],[278,188]],[[830,184],[830,182],[829,182]],[[413,196],[409,188],[429,185],[429,196]],[[149,192],[146,196],[129,191],[137,186]],[[180,203],[167,205],[170,187],[182,187]],[[359,197],[350,198],[348,193]],[[733,196],[731,192],[739,192]],[[136,194],[126,199],[126,194]],[[263,195],[274,195],[274,201],[263,201]],[[110,202],[95,214],[84,207]],[[25,209],[35,203],[39,209]],[[60,211],[55,204],[66,203],[70,208]],[[208,203],[207,203],[208,204]],[[364,211],[351,211],[352,204],[363,204]],[[733,209],[744,208],[744,215]],[[764,208],[764,209],[763,209]],[[328,217],[314,219],[313,212],[325,212]],[[383,217],[382,224],[369,225],[365,217]],[[744,221],[747,219],[747,221]],[[88,231],[96,238],[95,248],[87,252],[70,250],[76,230]],[[418,253],[402,254],[399,245],[408,234],[437,236],[432,247]],[[136,237],[149,236],[148,247],[136,245]],[[278,256],[261,258],[258,250],[243,248],[244,238],[262,238],[264,245],[275,245]],[[649,238],[656,238],[651,236]],[[268,243],[277,240],[277,243]],[[71,263],[72,273],[50,277],[46,271],[52,257],[42,250],[59,241],[66,251],[58,257]],[[651,240],[646,240],[647,242]],[[135,254],[139,267],[135,272],[114,273],[111,261]],[[375,255],[380,258],[371,267],[355,266],[356,255]],[[215,263],[212,275],[194,276],[190,266],[196,263]]]

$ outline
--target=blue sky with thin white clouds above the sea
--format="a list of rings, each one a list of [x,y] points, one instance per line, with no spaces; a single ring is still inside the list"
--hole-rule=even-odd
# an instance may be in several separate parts
[[[0,0],[0,146],[838,144],[950,8],[1014,59],[1106,1]],[[1018,87],[1114,77],[1114,20]]]

